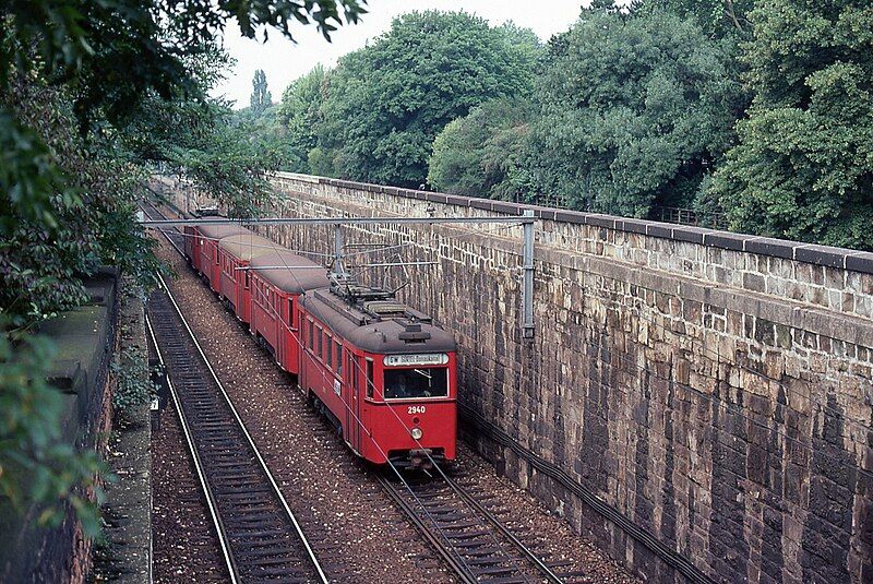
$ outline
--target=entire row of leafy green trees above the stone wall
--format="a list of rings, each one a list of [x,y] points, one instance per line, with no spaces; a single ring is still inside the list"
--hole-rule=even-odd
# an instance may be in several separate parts
[[[597,0],[529,29],[412,13],[261,118],[285,168],[873,249],[873,8]],[[270,115],[272,116],[272,115]],[[801,164],[802,163],[802,164]]]

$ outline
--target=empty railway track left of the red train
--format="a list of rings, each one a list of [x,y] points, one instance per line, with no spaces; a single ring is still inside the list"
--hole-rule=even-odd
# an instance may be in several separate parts
[[[312,545],[166,286],[150,299],[146,325],[169,374],[230,582],[326,584]]]

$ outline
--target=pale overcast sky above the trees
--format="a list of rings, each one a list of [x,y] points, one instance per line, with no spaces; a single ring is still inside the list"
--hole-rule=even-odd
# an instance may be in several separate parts
[[[585,1],[587,4],[587,0]],[[343,26],[327,43],[314,26],[295,28],[297,44],[272,32],[270,40],[262,43],[242,38],[236,24],[226,31],[225,47],[237,60],[237,65],[213,94],[236,102],[236,107],[249,105],[254,71],[266,73],[267,88],[273,102],[282,99],[282,92],[316,63],[336,64],[343,55],[363,47],[369,39],[391,28],[391,21],[414,10],[465,10],[499,25],[511,20],[519,26],[533,28],[548,40],[554,33],[566,31],[579,14],[582,0],[370,0],[369,13],[359,24]]]

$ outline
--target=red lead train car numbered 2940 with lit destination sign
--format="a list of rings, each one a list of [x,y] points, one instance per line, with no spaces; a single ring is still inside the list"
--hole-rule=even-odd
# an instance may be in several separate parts
[[[455,458],[456,345],[383,290],[337,281],[299,301],[298,384],[346,443],[376,464],[428,468]]]

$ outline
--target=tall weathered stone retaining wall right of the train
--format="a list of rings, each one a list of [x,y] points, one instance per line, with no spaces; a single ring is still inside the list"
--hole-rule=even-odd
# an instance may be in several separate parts
[[[535,210],[533,341],[521,335],[519,227],[347,227],[347,243],[402,246],[347,263],[397,252],[436,262],[408,269],[400,296],[455,332],[468,417],[517,443],[480,425],[479,449],[643,577],[873,581],[873,254],[301,175],[273,181],[284,216]],[[290,248],[333,250],[328,228],[262,229]],[[383,278],[407,279],[369,271]]]

